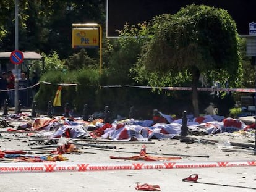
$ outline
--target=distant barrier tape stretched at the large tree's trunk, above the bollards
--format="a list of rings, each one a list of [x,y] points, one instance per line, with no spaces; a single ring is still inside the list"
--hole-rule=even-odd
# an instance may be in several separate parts
[[[120,88],[121,85],[105,85],[102,88]],[[179,90],[179,91],[192,91],[190,87],[174,87],[174,86],[135,86],[135,85],[124,85],[124,87],[133,88],[147,88],[147,89],[161,89],[161,90]],[[226,91],[226,92],[244,92],[244,93],[255,93],[256,89],[253,88],[197,88],[198,91]]]

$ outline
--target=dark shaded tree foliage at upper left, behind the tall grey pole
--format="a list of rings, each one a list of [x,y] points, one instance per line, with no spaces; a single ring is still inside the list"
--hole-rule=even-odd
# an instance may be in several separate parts
[[[14,49],[15,1],[0,2],[0,51]],[[86,11],[85,11],[86,10]],[[51,54],[61,59],[73,53],[72,23],[105,23],[103,0],[19,0],[19,49]]]

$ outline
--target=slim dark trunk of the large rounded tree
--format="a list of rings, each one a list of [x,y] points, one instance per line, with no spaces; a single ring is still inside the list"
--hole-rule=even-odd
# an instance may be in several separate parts
[[[192,67],[192,104],[194,107],[194,117],[199,116],[198,91],[197,91],[199,77],[200,77],[199,69],[195,66]]]

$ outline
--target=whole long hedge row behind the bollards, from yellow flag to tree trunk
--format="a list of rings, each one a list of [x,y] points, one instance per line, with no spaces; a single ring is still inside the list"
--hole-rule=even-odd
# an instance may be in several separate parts
[[[150,119],[153,109],[158,109],[164,114],[176,114],[181,117],[183,111],[192,112],[189,91],[172,91],[171,96],[165,91],[152,92],[151,89],[143,88],[103,88],[100,85],[109,85],[108,78],[113,73],[103,70],[100,75],[98,69],[80,69],[74,71],[49,71],[45,73],[40,81],[40,90],[36,94],[38,109],[47,111],[48,102],[54,101],[58,89],[58,83],[76,83],[76,86],[62,86],[61,107],[54,107],[56,113],[63,114],[66,102],[78,115],[83,114],[83,106],[87,104],[89,112],[101,111],[108,105],[111,115],[129,116],[130,107],[134,106],[138,119]],[[42,81],[51,84],[42,83]],[[118,85],[112,82],[111,85]],[[200,104],[207,104],[209,98],[206,93],[202,95]]]

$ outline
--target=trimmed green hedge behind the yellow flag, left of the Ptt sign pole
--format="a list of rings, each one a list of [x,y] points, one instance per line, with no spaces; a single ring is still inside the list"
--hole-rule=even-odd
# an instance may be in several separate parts
[[[47,110],[48,102],[54,101],[59,83],[76,83],[74,86],[62,86],[61,107],[56,112],[64,111],[64,106],[68,102],[73,109],[81,112],[83,104],[95,106],[95,93],[98,89],[100,74],[96,69],[82,69],[76,72],[46,72],[40,79],[40,90],[36,95],[38,109]],[[43,83],[43,82],[47,83]]]

